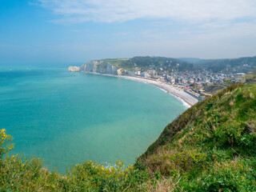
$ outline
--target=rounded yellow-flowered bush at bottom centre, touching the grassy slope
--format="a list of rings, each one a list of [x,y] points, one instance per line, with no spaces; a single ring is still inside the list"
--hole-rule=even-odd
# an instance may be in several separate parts
[[[134,166],[125,169],[122,163],[116,162],[115,166],[106,168],[88,161],[71,167],[66,174],[65,188],[71,191],[121,191],[136,172]]]

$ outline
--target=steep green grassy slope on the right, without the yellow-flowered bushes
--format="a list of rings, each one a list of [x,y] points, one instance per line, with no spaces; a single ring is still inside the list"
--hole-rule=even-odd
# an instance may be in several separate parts
[[[250,75],[247,82],[255,82]],[[166,126],[138,158],[185,191],[256,191],[256,85],[232,85]]]

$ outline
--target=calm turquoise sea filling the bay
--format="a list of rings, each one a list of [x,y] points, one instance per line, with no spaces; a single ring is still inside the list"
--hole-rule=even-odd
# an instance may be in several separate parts
[[[134,163],[186,110],[155,86],[56,69],[0,69],[0,129],[14,153],[35,154],[47,168],[86,160]]]

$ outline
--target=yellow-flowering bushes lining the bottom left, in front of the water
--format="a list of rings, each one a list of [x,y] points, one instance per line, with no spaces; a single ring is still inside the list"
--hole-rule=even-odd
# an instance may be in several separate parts
[[[6,154],[13,147],[12,138],[1,130],[1,152]],[[138,184],[148,180],[149,174],[125,168],[116,162],[111,168],[95,162],[84,162],[66,171],[66,175],[50,172],[36,157],[24,158],[21,155],[1,156],[0,191],[122,191],[136,190]],[[134,189],[133,189],[134,188]]]

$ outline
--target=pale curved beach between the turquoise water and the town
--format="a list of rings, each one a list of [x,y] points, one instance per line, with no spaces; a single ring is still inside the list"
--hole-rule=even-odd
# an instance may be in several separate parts
[[[87,74],[99,74],[95,72],[82,72],[82,73],[87,73]],[[190,106],[194,106],[198,102],[197,98],[194,98],[190,94],[187,94],[184,90],[179,89],[178,87],[171,86],[166,83],[162,82],[156,82],[154,80],[146,79],[146,78],[137,78],[137,77],[132,77],[132,76],[126,76],[126,75],[114,75],[114,74],[99,74],[103,76],[110,76],[110,77],[115,77],[115,78],[125,78],[128,80],[136,81],[136,82],[144,82],[146,84],[150,84],[152,86],[157,86],[161,90],[165,91],[168,94],[171,94],[175,98],[178,98],[181,100],[184,106],[189,108]]]

